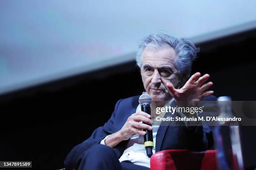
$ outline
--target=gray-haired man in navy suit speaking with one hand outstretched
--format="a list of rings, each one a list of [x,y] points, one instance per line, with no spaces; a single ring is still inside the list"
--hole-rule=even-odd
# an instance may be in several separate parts
[[[146,92],[152,98],[151,107],[163,107],[180,101],[215,100],[207,91],[212,82],[209,75],[190,77],[197,47],[185,39],[156,33],[146,37],[136,56]],[[190,78],[189,78],[190,77]],[[189,78],[189,79],[188,79]],[[143,129],[153,130],[153,153],[166,149],[206,150],[211,132],[203,126],[154,126],[148,115],[140,110],[138,97],[119,100],[104,126],[97,128],[90,138],[75,146],[64,161],[67,168],[79,170],[149,170],[150,158],[143,146]],[[177,113],[178,114],[178,113]],[[184,116],[183,113],[179,113]],[[143,124],[147,123],[149,125]],[[153,125],[153,128],[152,126]]]

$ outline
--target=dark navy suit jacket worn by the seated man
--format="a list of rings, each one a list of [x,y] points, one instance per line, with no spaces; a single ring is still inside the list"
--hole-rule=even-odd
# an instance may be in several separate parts
[[[78,167],[86,150],[91,148],[92,145],[100,144],[100,141],[107,135],[120,130],[128,117],[136,112],[138,98],[139,96],[133,96],[118,100],[108,122],[95,129],[90,138],[70,151],[64,161],[65,167]],[[216,97],[208,96],[203,100],[215,101]],[[113,148],[118,158],[123,154],[127,142],[128,140],[122,141]],[[156,152],[166,149],[206,150],[212,147],[212,144],[212,133],[207,126],[160,125],[156,135]]]

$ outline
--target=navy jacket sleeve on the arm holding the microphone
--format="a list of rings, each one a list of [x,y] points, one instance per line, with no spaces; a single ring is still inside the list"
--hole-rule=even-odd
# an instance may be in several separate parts
[[[121,99],[122,100],[122,99]],[[95,129],[87,140],[84,140],[84,142],[80,143],[79,145],[75,146],[70,153],[67,155],[67,157],[64,160],[64,166],[65,168],[75,168],[78,167],[80,164],[84,152],[92,147],[92,145],[100,144],[100,141],[104,139],[107,135],[110,135],[113,133],[113,122],[115,120],[116,111],[118,108],[119,103],[121,100],[118,100],[118,102],[115,104],[115,110],[112,113],[110,119],[108,122],[106,122],[103,126]]]

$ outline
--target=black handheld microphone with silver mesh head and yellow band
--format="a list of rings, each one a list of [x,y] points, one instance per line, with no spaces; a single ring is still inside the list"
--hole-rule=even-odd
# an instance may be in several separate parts
[[[151,101],[152,100],[151,100],[150,95],[148,95],[147,93],[143,93],[139,98],[139,103],[141,105],[141,111],[146,112],[149,115],[151,115],[151,110],[150,110]],[[148,156],[148,158],[150,158],[151,155],[153,155],[152,149],[154,148],[153,134],[152,134],[152,130],[144,130],[144,131],[146,132],[146,135],[144,135],[144,145],[145,145],[147,156]]]

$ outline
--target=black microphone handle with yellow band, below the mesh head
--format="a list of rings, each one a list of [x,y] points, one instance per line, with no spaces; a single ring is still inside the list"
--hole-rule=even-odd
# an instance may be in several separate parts
[[[150,105],[149,104],[141,105],[141,111],[146,112],[149,115],[151,115]],[[145,123],[145,124],[147,124],[147,123]],[[152,149],[154,148],[153,133],[152,133],[152,130],[144,130],[144,131],[146,132],[146,135],[144,135],[144,145],[145,145],[147,156],[150,158],[151,155],[153,155]]]

